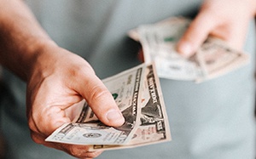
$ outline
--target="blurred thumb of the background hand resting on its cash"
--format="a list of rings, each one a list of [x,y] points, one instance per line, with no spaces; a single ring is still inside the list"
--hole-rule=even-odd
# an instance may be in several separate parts
[[[177,43],[177,51],[184,57],[190,57],[195,54],[196,49],[207,39],[209,33],[218,23],[216,20],[218,19],[210,12],[202,10]]]

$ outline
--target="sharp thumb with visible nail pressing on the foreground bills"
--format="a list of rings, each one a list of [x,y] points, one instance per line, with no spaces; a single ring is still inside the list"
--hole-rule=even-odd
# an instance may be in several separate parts
[[[86,99],[99,120],[113,127],[119,127],[125,122],[112,94],[94,73],[87,72],[78,80],[74,88]]]

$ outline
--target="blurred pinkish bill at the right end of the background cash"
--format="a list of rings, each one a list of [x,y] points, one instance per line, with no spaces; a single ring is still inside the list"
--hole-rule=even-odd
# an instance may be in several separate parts
[[[222,40],[209,37],[196,53],[197,60],[204,71],[204,76],[197,77],[196,82],[203,82],[222,76],[230,71],[246,65],[248,54],[230,48]]]

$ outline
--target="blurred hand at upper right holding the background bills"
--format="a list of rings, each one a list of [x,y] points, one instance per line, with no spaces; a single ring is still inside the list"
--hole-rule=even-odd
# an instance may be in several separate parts
[[[241,49],[255,12],[255,0],[206,0],[177,44],[177,51],[189,57],[208,36],[219,37],[232,48]]]

